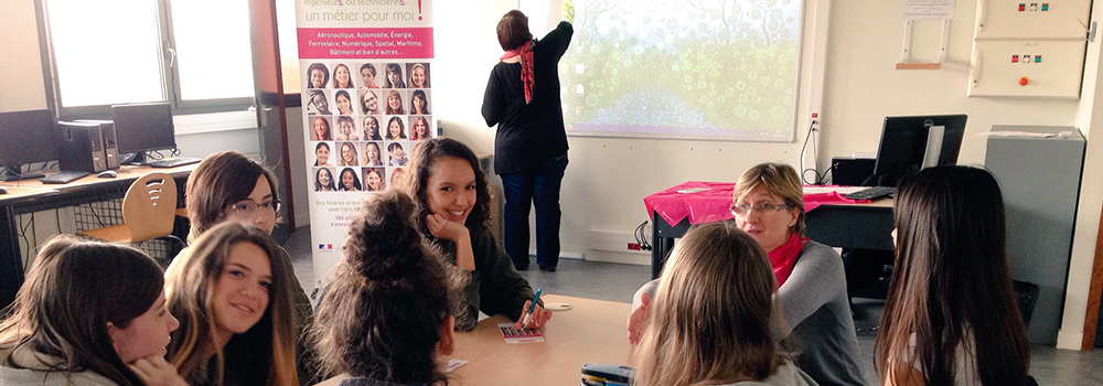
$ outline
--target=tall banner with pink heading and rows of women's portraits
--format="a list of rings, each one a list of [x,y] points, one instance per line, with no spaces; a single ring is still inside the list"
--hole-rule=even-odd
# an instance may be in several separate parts
[[[405,172],[432,125],[430,0],[296,2],[315,278],[368,195]]]

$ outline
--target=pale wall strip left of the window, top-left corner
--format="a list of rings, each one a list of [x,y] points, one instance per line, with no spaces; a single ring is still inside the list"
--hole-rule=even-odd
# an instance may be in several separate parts
[[[0,111],[46,106],[33,1],[0,1]],[[18,92],[14,92],[18,90]]]

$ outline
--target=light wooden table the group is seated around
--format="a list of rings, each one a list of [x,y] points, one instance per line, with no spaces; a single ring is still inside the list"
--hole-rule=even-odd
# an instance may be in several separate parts
[[[503,315],[479,322],[474,331],[456,333],[450,357],[471,362],[449,374],[451,384],[578,385],[585,364],[628,364],[631,345],[625,322],[632,304],[556,294],[542,299],[571,305],[554,311],[543,343],[505,343],[497,323],[512,321]],[[340,379],[319,386],[336,385]]]

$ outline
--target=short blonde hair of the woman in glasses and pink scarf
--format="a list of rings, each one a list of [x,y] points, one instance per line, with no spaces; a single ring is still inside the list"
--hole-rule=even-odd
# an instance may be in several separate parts
[[[796,170],[784,163],[759,163],[743,172],[731,192],[731,202],[739,202],[756,186],[762,184],[771,195],[778,196],[799,211],[796,224],[789,228],[796,236],[804,237],[804,187]]]

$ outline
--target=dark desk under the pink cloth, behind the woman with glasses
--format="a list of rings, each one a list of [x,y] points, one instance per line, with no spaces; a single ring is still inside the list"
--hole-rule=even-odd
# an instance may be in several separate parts
[[[805,214],[804,236],[832,247],[892,250],[892,204],[886,197],[866,204],[821,205]],[[651,224],[651,277],[657,278],[674,239],[689,230],[689,218],[671,225],[652,211]]]

